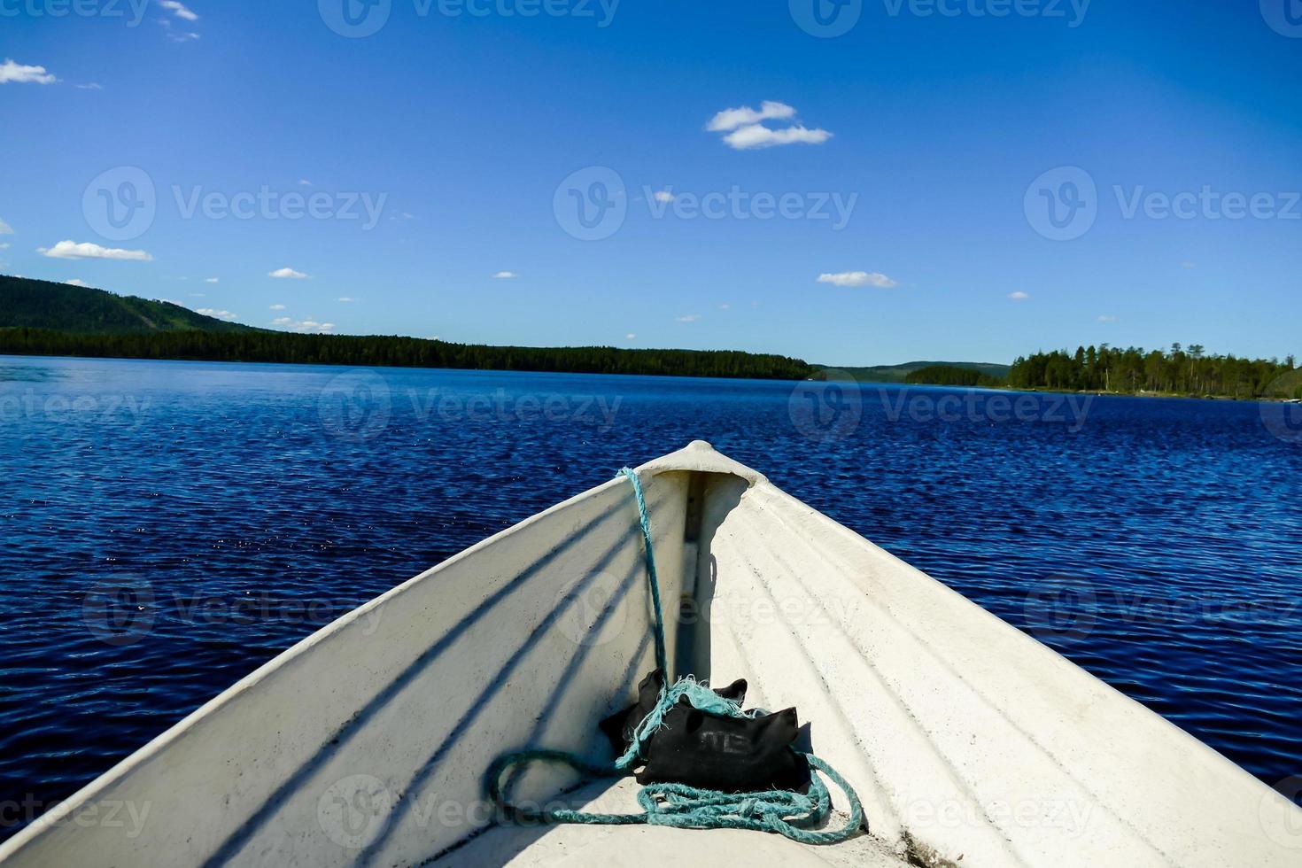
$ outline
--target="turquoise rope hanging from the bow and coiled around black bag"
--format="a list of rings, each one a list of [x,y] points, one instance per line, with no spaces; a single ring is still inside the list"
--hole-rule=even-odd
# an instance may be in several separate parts
[[[646,547],[647,582],[651,586],[651,604],[655,609],[655,649],[660,671],[665,668],[664,614],[660,608],[660,580],[655,571],[655,553],[651,548],[651,518],[647,514],[642,481],[637,472],[625,467],[620,475],[633,483],[638,502],[638,517],[642,522],[642,541]],[[828,845],[846,841],[858,833],[863,824],[863,806],[845,778],[832,766],[814,756],[801,753],[810,764],[809,794],[790,790],[764,790],[760,793],[721,793],[704,790],[685,783],[650,783],[638,793],[642,813],[594,813],[569,808],[544,809],[523,808],[510,804],[503,787],[503,776],[510,768],[525,763],[546,761],[569,765],[587,777],[620,777],[629,774],[634,765],[644,757],[642,746],[663,725],[664,716],[680,699],[686,698],[693,707],[703,712],[727,717],[755,717],[760,709],[743,711],[741,703],[724,699],[710,686],[690,675],[681,678],[660,692],[660,700],[650,714],[638,725],[629,750],[613,765],[594,765],[574,753],[549,750],[527,750],[497,757],[488,768],[488,798],[514,822],[574,822],[582,825],[652,825],[676,829],[751,829],[772,832],[792,841],[807,845]],[[840,829],[818,832],[832,812],[832,796],[827,785],[812,770],[822,772],[836,783],[850,803],[850,819]]]

